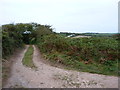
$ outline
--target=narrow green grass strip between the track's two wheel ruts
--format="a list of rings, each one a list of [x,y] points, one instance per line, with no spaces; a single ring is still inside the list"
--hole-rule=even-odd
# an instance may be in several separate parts
[[[35,65],[33,63],[33,47],[32,45],[28,48],[27,52],[24,55],[24,58],[22,60],[23,65],[30,67],[30,68],[35,68]]]

